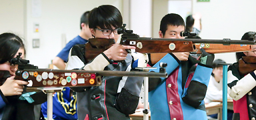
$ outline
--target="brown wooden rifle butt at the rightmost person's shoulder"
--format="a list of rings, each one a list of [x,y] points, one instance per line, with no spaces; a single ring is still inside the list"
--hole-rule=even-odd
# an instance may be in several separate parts
[[[256,57],[243,56],[238,61],[238,68],[239,68],[239,73],[241,75],[247,75],[248,73],[251,73],[251,72],[255,71],[255,69],[256,69]]]

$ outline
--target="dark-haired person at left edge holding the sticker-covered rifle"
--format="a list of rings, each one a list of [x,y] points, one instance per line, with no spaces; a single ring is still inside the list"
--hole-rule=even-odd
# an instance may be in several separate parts
[[[9,71],[9,77],[1,85],[1,107],[0,118],[3,120],[35,120],[34,105],[39,105],[47,101],[47,95],[43,91],[27,92],[24,85],[27,81],[15,79],[15,72],[19,65],[13,65],[13,58],[18,55],[25,58],[25,46],[21,38],[13,33],[3,33],[0,35],[0,70]]]

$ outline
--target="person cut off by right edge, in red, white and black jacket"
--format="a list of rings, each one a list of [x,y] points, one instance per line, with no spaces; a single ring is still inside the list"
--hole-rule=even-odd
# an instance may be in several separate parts
[[[255,32],[247,32],[242,40],[253,41]],[[233,120],[256,119],[256,45],[251,51],[237,53],[237,63],[230,65],[227,71],[227,93],[233,99]]]

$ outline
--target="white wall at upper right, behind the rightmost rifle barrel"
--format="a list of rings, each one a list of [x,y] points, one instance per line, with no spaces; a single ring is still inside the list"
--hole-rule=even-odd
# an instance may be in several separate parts
[[[247,31],[256,31],[256,1],[251,0],[193,0],[193,13],[202,14],[202,39],[241,39]],[[220,53],[215,59],[234,63],[235,53]]]

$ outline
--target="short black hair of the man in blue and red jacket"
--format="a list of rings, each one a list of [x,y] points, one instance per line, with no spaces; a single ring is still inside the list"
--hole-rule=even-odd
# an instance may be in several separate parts
[[[162,31],[163,36],[165,36],[165,32],[167,31],[168,25],[173,25],[173,26],[184,26],[185,27],[185,22],[183,18],[175,13],[169,13],[165,15],[160,24],[160,31]]]

